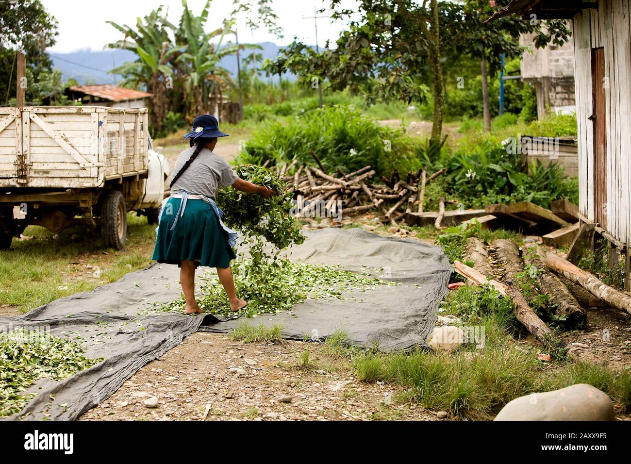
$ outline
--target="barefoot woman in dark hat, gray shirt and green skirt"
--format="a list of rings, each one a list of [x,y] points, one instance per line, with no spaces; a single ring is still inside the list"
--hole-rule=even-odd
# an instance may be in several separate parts
[[[230,261],[236,258],[232,247],[237,233],[221,222],[223,211],[215,204],[219,186],[262,196],[276,194],[240,179],[225,159],[213,153],[217,139],[227,135],[219,130],[215,116],[203,114],[194,119],[193,130],[184,136],[191,148],[180,153],[175,162],[171,196],[160,212],[152,259],[180,266],[186,314],[204,312],[195,300],[195,269],[200,265],[217,268],[232,311],[247,304],[235,292]]]

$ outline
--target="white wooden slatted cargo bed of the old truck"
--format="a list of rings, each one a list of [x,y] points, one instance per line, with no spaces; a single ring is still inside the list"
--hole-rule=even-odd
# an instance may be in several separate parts
[[[147,110],[0,108],[0,187],[101,187],[146,174]]]

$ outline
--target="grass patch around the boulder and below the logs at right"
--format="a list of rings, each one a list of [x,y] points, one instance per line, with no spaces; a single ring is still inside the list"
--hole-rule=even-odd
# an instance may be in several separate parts
[[[351,367],[358,380],[398,384],[405,388],[404,400],[466,419],[492,419],[514,398],[575,383],[603,390],[620,411],[631,407],[628,373],[563,359],[546,365],[537,359],[537,348],[519,346],[512,335],[512,302],[496,290],[461,287],[447,295],[440,313],[458,316],[464,326],[483,326],[485,346],[463,347],[453,355],[420,349],[410,354],[354,352]]]

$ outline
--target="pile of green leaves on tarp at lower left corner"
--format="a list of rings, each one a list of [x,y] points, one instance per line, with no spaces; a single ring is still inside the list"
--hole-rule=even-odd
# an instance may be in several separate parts
[[[43,331],[16,329],[0,333],[0,417],[20,412],[35,396],[37,379],[66,379],[103,361],[88,359],[78,342]]]

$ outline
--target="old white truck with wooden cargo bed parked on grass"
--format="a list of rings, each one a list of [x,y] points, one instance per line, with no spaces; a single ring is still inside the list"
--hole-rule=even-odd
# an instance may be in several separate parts
[[[127,211],[156,222],[168,174],[146,108],[0,108],[0,249],[28,225],[85,225],[123,249]]]

